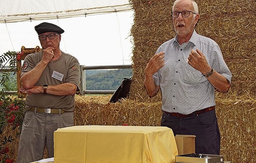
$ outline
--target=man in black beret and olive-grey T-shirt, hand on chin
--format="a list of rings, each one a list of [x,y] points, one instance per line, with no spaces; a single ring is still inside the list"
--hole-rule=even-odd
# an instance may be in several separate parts
[[[21,92],[27,92],[25,117],[19,141],[17,163],[28,163],[54,156],[53,132],[73,126],[75,94],[79,91],[77,59],[60,50],[59,26],[43,22],[35,26],[42,52],[24,59]]]

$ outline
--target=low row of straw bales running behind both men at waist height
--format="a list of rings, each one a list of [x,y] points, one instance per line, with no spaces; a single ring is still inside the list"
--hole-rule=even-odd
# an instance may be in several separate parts
[[[108,103],[109,96],[76,96],[75,125],[160,126],[161,102],[139,102],[123,99]],[[221,134],[221,155],[233,163],[254,162],[256,143],[255,97],[218,94],[216,114]],[[16,131],[7,126],[0,136]],[[10,154],[16,160],[18,138],[10,143]],[[44,154],[44,157],[46,153]]]

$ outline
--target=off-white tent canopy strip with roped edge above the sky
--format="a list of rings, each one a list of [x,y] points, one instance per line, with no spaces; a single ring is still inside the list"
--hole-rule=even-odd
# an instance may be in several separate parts
[[[0,23],[130,10],[128,0],[1,0]]]

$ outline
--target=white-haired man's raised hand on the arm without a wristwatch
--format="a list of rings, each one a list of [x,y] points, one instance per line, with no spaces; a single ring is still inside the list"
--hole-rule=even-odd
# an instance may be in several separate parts
[[[145,68],[145,76],[152,76],[156,73],[161,67],[164,66],[164,52],[155,54],[147,64]]]

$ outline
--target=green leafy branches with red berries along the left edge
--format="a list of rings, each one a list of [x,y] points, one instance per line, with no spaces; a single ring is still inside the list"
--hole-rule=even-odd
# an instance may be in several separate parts
[[[13,71],[13,75],[16,74],[16,52],[6,52],[0,56],[0,74],[1,74],[1,90],[0,90],[0,134],[3,133],[4,128],[10,124],[12,129],[18,127],[19,132],[16,136],[20,135],[21,126],[24,118],[25,100],[18,96],[8,96],[5,91],[10,89],[9,76],[10,72],[6,68],[10,68],[9,71]],[[19,56],[20,58],[20,56]],[[7,63],[9,66],[6,67]],[[16,88],[17,89],[17,88]],[[14,139],[9,136],[4,136],[4,140],[0,144],[0,160],[1,163],[12,163],[14,160],[9,159],[9,148],[5,147],[7,143],[11,143]]]

